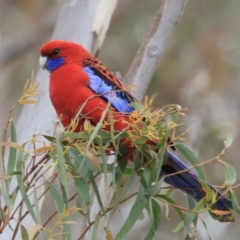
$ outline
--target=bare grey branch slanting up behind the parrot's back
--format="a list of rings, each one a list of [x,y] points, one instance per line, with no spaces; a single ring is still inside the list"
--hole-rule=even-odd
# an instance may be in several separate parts
[[[180,20],[187,0],[166,0],[157,13],[151,29],[139,48],[124,78],[135,84],[135,97],[141,100],[166,49],[169,37]]]

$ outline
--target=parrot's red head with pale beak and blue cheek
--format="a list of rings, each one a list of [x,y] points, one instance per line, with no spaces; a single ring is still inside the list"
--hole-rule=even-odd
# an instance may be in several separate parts
[[[81,45],[63,40],[53,40],[45,43],[40,49],[39,64],[52,72],[68,63],[83,64],[92,55]]]

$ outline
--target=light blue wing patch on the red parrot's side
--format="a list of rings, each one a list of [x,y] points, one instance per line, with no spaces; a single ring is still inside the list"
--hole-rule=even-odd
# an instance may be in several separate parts
[[[134,110],[129,106],[131,101],[126,92],[118,90],[114,83],[109,84],[104,77],[96,75],[91,67],[84,67],[83,70],[90,79],[89,87],[100,97],[108,100],[118,112],[131,113]]]

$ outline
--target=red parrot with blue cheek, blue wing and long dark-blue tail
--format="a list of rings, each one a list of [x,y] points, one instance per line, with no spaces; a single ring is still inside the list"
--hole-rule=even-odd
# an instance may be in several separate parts
[[[129,126],[129,116],[134,111],[129,104],[136,102],[136,99],[119,78],[85,48],[77,43],[54,40],[44,44],[40,54],[40,65],[50,72],[50,98],[64,127],[71,124],[80,108],[81,119],[89,119],[96,125],[108,104],[112,106],[114,129],[121,131]],[[81,130],[81,124],[80,120],[75,131]],[[181,172],[186,169],[188,167],[183,162],[168,152],[167,162],[162,165],[159,175],[165,176],[166,183],[200,201],[206,192],[195,172]],[[177,172],[180,173],[168,176]],[[217,196],[213,209],[230,211],[231,201],[212,185],[206,184]],[[219,220],[220,217],[221,214]],[[229,217],[224,221],[233,219]]]

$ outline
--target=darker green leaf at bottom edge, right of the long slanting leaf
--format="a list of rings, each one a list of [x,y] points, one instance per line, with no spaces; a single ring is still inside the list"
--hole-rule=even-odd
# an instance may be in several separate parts
[[[144,240],[150,240],[153,239],[160,223],[161,223],[161,207],[157,201],[155,201],[153,198],[149,201],[150,203],[150,219],[152,226],[149,229],[146,237]]]

